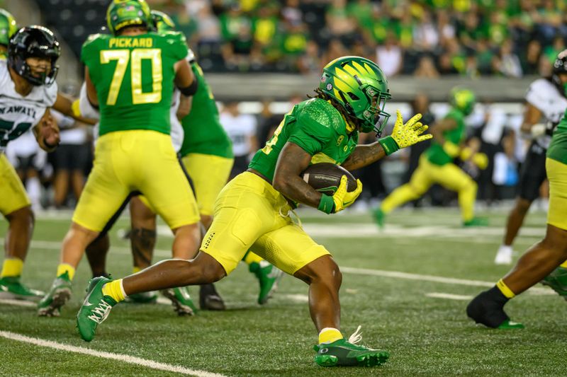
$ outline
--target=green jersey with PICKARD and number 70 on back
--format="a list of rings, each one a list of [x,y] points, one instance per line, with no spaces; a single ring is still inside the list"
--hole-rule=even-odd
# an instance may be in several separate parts
[[[152,129],[169,134],[174,64],[187,56],[181,33],[96,34],[83,45],[101,113],[99,134]]]

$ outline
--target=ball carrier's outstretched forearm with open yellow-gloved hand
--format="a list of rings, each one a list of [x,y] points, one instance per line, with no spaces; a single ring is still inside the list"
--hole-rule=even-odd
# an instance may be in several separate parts
[[[398,149],[411,146],[427,139],[431,139],[431,134],[422,133],[427,130],[427,125],[419,122],[421,114],[414,115],[408,122],[403,122],[402,115],[398,110],[396,114],[392,134],[384,137],[373,144],[359,145],[350,156],[342,163],[342,167],[347,170],[363,168],[383,156],[390,155]]]

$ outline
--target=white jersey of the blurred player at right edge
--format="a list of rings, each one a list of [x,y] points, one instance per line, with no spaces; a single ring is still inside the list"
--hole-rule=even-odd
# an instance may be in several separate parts
[[[561,120],[567,108],[567,98],[548,79],[537,79],[532,82],[527,89],[526,100],[534,108],[541,111],[546,118],[546,122],[551,122],[553,127]],[[551,136],[549,135],[544,135],[537,139],[537,144],[545,149],[547,149],[550,142]]]

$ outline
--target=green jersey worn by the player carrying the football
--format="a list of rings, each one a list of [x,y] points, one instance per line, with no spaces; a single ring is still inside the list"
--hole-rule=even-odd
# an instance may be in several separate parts
[[[274,180],[276,162],[283,146],[290,141],[309,153],[311,163],[340,165],[357,147],[359,134],[348,133],[344,117],[329,102],[319,98],[305,100],[288,112],[264,148],[252,158],[249,168]]]

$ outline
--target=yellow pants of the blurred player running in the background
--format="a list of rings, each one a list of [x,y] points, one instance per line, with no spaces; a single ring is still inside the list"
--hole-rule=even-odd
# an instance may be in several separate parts
[[[476,182],[454,163],[439,166],[430,163],[427,157],[421,156],[420,165],[410,178],[410,182],[393,190],[381,204],[385,214],[396,207],[420,198],[435,183],[459,193],[459,207],[463,221],[474,217],[474,201],[476,199]]]

